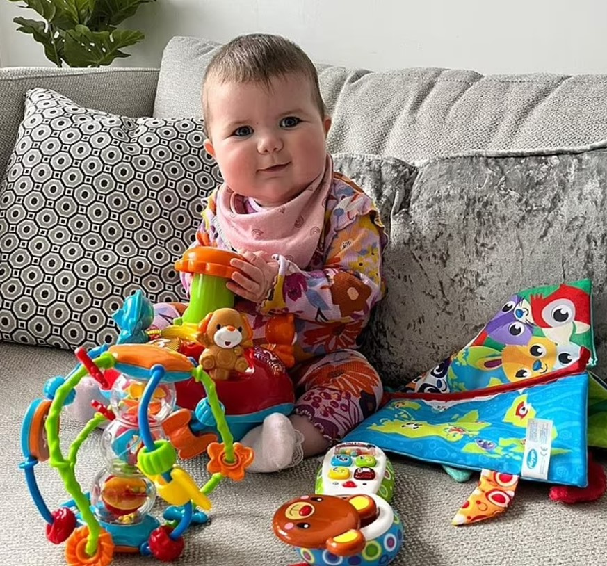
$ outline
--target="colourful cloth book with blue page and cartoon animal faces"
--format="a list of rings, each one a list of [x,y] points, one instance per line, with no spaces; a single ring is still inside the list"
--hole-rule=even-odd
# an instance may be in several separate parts
[[[547,419],[546,480],[585,486],[588,443],[607,446],[607,388],[587,371],[597,362],[591,296],[590,280],[515,294],[462,350],[387,393],[344,441],[517,478],[529,419]]]

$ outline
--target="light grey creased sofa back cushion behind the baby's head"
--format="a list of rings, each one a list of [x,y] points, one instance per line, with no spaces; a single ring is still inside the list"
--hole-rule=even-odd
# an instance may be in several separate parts
[[[172,38],[165,48],[154,115],[200,115],[204,69],[216,42]],[[405,161],[470,149],[524,149],[607,138],[607,76],[410,68],[387,72],[318,65],[333,116],[332,152]]]

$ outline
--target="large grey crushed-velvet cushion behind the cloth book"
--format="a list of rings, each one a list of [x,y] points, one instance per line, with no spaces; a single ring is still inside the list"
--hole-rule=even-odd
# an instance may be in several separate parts
[[[558,153],[430,161],[396,195],[388,294],[365,353],[396,385],[474,337],[513,293],[589,277],[607,359],[607,141]]]

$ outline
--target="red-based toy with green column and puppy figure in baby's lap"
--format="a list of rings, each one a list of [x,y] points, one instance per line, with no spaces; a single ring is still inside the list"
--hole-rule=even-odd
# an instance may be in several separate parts
[[[225,311],[234,306],[234,294],[225,286],[226,279],[234,273],[229,264],[234,257],[238,255],[203,246],[186,250],[175,268],[193,277],[188,308],[169,328],[148,332],[148,339],[163,341],[167,348],[195,359],[200,359],[202,354],[203,369],[209,370],[216,380],[227,423],[234,439],[239,440],[268,414],[290,414],[293,410],[295,394],[286,368],[294,363],[295,326],[292,314],[272,316],[266,323],[264,339],[253,343],[253,331],[246,317]],[[138,309],[125,307],[123,310],[139,313],[149,325],[148,309],[145,302],[138,300],[137,293],[127,301],[136,302]],[[211,318],[207,318],[211,314],[212,323]],[[131,321],[126,323],[129,328],[142,326]],[[238,340],[241,343],[232,343]],[[217,436],[216,422],[209,411],[202,383],[187,378],[176,382],[175,390],[181,409],[163,422],[163,428],[172,441],[177,442],[180,457],[193,458],[204,452],[207,440],[212,438],[209,435]]]

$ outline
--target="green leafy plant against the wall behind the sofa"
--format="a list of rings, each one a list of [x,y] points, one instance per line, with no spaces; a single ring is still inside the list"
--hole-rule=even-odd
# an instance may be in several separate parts
[[[24,1],[40,19],[15,17],[18,31],[31,33],[44,46],[44,55],[58,67],[100,67],[117,57],[128,57],[122,49],[145,37],[133,29],[118,29],[139,6],[155,0],[10,0]]]

